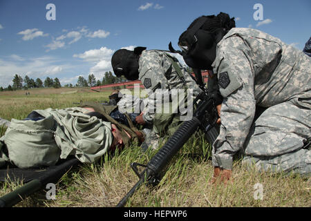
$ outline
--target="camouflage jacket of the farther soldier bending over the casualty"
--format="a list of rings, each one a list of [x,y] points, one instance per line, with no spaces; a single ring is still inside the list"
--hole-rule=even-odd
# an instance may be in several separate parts
[[[172,63],[172,59],[175,64]],[[169,93],[172,89],[190,89],[193,97],[200,93],[200,88],[187,73],[185,67],[178,62],[176,57],[169,55],[169,52],[144,50],[139,59],[139,66],[139,79],[144,84],[144,88],[149,90],[149,108],[143,115],[146,122],[153,122],[156,97],[163,95],[164,91]]]

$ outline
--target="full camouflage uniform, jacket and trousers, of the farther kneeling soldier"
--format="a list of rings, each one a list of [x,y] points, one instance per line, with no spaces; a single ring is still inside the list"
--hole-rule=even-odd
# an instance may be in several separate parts
[[[180,125],[180,115],[187,114],[187,111],[180,112],[180,105],[187,103],[187,91],[185,91],[184,100],[179,99],[177,106],[171,102],[171,95],[169,95],[169,113],[164,110],[165,103],[160,111],[156,109],[158,108],[156,98],[170,94],[172,89],[189,89],[192,98],[195,98],[200,93],[200,88],[187,73],[185,67],[181,66],[178,59],[171,56],[169,52],[144,50],[139,59],[139,66],[139,79],[144,87],[149,90],[148,108],[142,117],[145,122],[153,123],[153,130],[147,135],[145,144],[157,148],[162,133],[172,135]],[[176,108],[179,111],[177,114]]]

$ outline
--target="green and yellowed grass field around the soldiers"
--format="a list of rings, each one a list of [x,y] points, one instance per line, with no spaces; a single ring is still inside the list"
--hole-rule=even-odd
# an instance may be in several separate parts
[[[110,91],[96,93],[87,88],[33,89],[26,96],[21,91],[0,93],[0,117],[23,119],[35,109],[77,106],[80,100],[108,100]],[[5,127],[0,128],[0,137]],[[155,153],[142,153],[131,146],[112,157],[106,154],[100,162],[71,169],[57,182],[56,200],[46,200],[42,190],[16,206],[115,206],[138,181],[131,162],[147,164]],[[211,147],[198,133],[173,157],[158,186],[143,185],[126,206],[303,206],[309,207],[310,178],[299,175],[258,173],[246,169],[241,160],[234,161],[234,182],[213,185]],[[262,185],[262,196],[255,184]],[[9,193],[21,183],[8,180],[0,184],[0,195]],[[258,199],[259,196],[259,199]]]

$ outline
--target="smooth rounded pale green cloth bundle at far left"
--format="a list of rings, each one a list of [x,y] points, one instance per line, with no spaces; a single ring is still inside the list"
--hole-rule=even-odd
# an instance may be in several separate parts
[[[52,115],[45,119],[12,119],[2,138],[10,162],[21,169],[56,164],[61,153],[55,142],[56,122]]]

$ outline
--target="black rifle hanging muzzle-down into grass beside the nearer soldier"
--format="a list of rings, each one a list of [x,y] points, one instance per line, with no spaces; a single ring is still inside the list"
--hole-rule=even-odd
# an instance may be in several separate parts
[[[200,73],[196,73],[196,77],[202,77]],[[127,193],[124,198],[117,204],[117,207],[122,207],[126,204],[126,201],[135,193],[135,191],[148,181],[151,184],[157,184],[158,177],[164,166],[169,164],[174,155],[182,148],[182,146],[189,140],[191,135],[200,127],[205,131],[205,135],[209,143],[214,142],[219,133],[219,127],[216,124],[218,119],[218,113],[216,110],[215,99],[210,95],[207,88],[202,81],[198,80],[197,83],[202,89],[202,92],[194,99],[194,104],[200,100],[196,111],[191,120],[183,122],[178,130],[169,137],[169,140],[160,148],[158,153],[154,155],[147,165],[138,163],[132,163],[131,168],[138,175],[140,180],[133,186],[133,188]],[[137,166],[144,166],[145,169],[142,173],[138,172]]]

